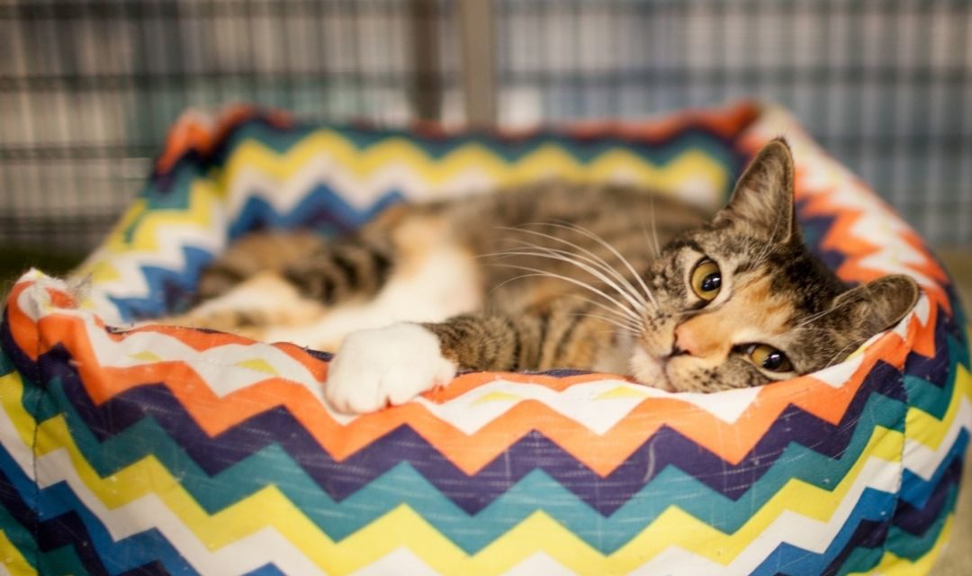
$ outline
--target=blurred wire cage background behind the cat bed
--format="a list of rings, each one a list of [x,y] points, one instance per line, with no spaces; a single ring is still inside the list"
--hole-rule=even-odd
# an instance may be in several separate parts
[[[189,107],[515,126],[755,97],[910,220],[969,302],[970,23],[964,0],[0,0],[0,281],[86,254]],[[936,574],[967,574],[967,548]]]

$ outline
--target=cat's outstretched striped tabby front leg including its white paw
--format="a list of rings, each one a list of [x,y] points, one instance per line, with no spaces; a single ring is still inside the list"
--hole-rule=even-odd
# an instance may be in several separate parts
[[[612,341],[589,304],[560,300],[518,315],[401,322],[348,335],[330,363],[325,397],[341,412],[407,402],[469,370],[592,369]]]

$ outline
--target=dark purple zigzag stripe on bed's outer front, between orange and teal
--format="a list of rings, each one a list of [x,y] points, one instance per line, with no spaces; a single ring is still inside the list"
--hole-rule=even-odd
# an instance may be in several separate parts
[[[578,469],[574,457],[541,433],[531,432],[476,475],[469,477],[454,466],[446,468],[434,447],[407,427],[399,427],[354,456],[335,462],[330,456],[320,452],[313,438],[294,422],[285,409],[263,412],[210,438],[197,426],[190,425],[192,420],[186,409],[163,387],[132,388],[97,407],[87,397],[75,368],[56,349],[41,356],[40,363],[43,373],[49,374],[49,377],[56,375],[64,383],[68,402],[81,414],[87,427],[92,429],[101,442],[112,438],[118,430],[126,429],[146,415],[152,415],[165,432],[172,435],[180,446],[185,447],[187,454],[209,475],[221,473],[227,466],[276,442],[298,461],[307,455],[320,455],[315,457],[316,466],[309,472],[320,486],[327,486],[330,495],[338,500],[360,490],[395,463],[408,461],[424,475],[432,478],[438,490],[447,494],[454,493],[455,501],[468,512],[480,510],[502,493],[505,486],[518,481],[534,466],[530,463],[526,468],[508,469],[508,461],[514,464],[534,462],[536,458],[529,455],[537,454],[537,451],[547,455],[543,458],[543,468],[547,473],[603,514],[612,513],[669,463],[702,478],[713,491],[736,499],[762,477],[791,442],[811,446],[814,452],[826,457],[844,454],[851,440],[854,423],[858,421],[871,390],[899,401],[903,400],[897,372],[890,366],[879,364],[871,371],[864,386],[858,390],[851,401],[851,408],[840,423],[828,424],[797,407],[790,407],[770,427],[770,433],[737,464],[725,462],[685,439],[676,430],[663,426],[646,439],[634,455],[601,479],[591,470]],[[20,371],[24,374],[30,373],[24,369]],[[132,411],[133,406],[138,407],[138,410]],[[894,410],[892,414],[900,419],[902,411],[903,407]],[[273,435],[266,434],[268,430],[272,430]],[[819,442],[821,434],[828,437],[827,442]],[[133,455],[143,454],[138,448],[131,448],[134,450]],[[220,457],[213,460],[209,457],[212,454]],[[382,462],[382,467],[374,469],[371,462]],[[352,477],[346,473],[347,470],[359,472]],[[734,470],[736,472],[732,473]],[[728,472],[723,474],[724,471]],[[499,479],[505,479],[505,483],[498,482]],[[585,488],[596,486],[611,486],[614,497],[605,500],[598,496],[597,491]]]

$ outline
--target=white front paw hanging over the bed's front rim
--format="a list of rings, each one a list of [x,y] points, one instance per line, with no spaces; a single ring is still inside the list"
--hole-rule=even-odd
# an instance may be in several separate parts
[[[455,375],[456,364],[442,357],[432,332],[401,322],[349,334],[330,361],[324,395],[340,412],[374,412],[448,384]]]

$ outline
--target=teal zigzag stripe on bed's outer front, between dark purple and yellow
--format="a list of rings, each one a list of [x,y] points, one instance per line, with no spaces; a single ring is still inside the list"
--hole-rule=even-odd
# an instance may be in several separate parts
[[[60,394],[59,387],[50,387],[55,396]],[[893,425],[894,418],[888,418],[888,413],[898,413],[900,409],[889,408],[885,396],[872,395],[868,406],[861,412],[859,419],[863,422],[885,426]],[[265,485],[274,485],[282,491],[298,508],[308,514],[308,518],[321,526],[331,538],[340,539],[350,534],[373,518],[394,509],[400,503],[407,503],[419,512],[445,535],[452,538],[467,552],[474,552],[488,544],[495,537],[502,534],[510,523],[525,518],[532,513],[538,502],[556,502],[557,505],[547,508],[555,520],[566,525],[572,531],[603,552],[610,552],[617,548],[636,533],[632,521],[638,519],[642,523],[649,523],[664,512],[671,497],[666,494],[706,493],[709,491],[704,485],[698,484],[692,477],[685,475],[676,467],[663,470],[655,476],[640,491],[629,499],[623,499],[624,491],[618,494],[617,487],[608,486],[602,492],[608,492],[611,497],[608,505],[613,510],[609,518],[599,516],[587,506],[578,506],[576,496],[550,478],[542,470],[535,469],[526,474],[519,482],[510,487],[481,511],[470,518],[467,513],[459,510],[454,503],[447,500],[423,476],[416,473],[408,464],[398,465],[379,478],[369,483],[360,491],[345,498],[340,505],[336,505],[330,495],[321,491],[314,484],[286,452],[276,447],[268,447],[254,456],[247,457],[221,472],[217,478],[210,481],[205,473],[199,470],[191,461],[172,459],[169,455],[179,455],[181,450],[177,445],[170,445],[171,441],[153,421],[142,421],[127,427],[123,435],[113,438],[109,445],[99,450],[91,446],[93,438],[87,438],[87,427],[79,422],[78,416],[66,405],[65,418],[78,442],[79,449],[97,473],[104,477],[117,473],[123,466],[127,466],[146,456],[145,447],[153,447],[153,453],[162,457],[160,463],[170,470],[174,476],[182,478],[182,484],[191,492],[193,498],[207,510],[215,513],[233,503],[243,499],[250,493],[260,491]],[[120,422],[121,427],[127,426]],[[779,463],[771,468],[757,484],[747,493],[748,497],[731,501],[723,497],[695,498],[680,503],[684,511],[699,518],[707,518],[713,527],[734,532],[746,523],[753,510],[759,509],[771,497],[783,497],[784,501],[803,501],[806,494],[799,494],[793,487],[785,488],[793,478],[811,486],[825,490],[841,482],[846,474],[851,473],[853,462],[857,461],[866,448],[868,438],[874,434],[873,427],[857,426],[854,438],[843,452],[838,462],[821,458],[815,453],[797,445],[787,447],[779,458]],[[108,455],[121,454],[125,459],[106,461]],[[104,455],[104,456],[103,456]],[[303,458],[308,455],[302,455]],[[114,459],[114,458],[111,458]],[[821,461],[817,461],[821,460]],[[793,470],[791,462],[801,462],[797,470]],[[827,470],[826,477],[819,471]],[[272,471],[272,472],[271,472]],[[257,482],[254,479],[259,479]],[[494,482],[501,482],[494,480]],[[505,480],[503,482],[506,482]],[[695,490],[688,487],[695,486]],[[402,487],[409,487],[402,490]],[[478,488],[467,482],[462,486],[452,486],[454,493],[476,491]],[[778,492],[780,492],[778,494]],[[782,493],[791,493],[781,496]],[[405,494],[403,498],[389,496],[394,493]],[[603,501],[603,500],[602,500]],[[487,526],[486,530],[483,526]],[[607,536],[606,536],[607,534]]]

